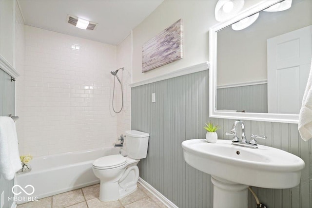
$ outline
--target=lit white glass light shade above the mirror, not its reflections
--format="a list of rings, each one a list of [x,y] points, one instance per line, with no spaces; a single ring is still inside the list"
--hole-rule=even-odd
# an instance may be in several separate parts
[[[226,21],[233,18],[243,8],[245,0],[218,0],[215,5],[215,19]]]

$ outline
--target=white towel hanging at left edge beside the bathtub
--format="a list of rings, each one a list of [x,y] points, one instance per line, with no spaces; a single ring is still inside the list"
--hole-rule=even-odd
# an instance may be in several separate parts
[[[21,169],[19,142],[15,123],[8,116],[0,116],[0,171],[6,180],[12,180]]]

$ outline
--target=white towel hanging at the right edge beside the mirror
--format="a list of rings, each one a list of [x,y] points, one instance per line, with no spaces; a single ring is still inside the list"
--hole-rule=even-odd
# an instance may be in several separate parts
[[[298,130],[303,140],[312,138],[312,64],[299,113]]]

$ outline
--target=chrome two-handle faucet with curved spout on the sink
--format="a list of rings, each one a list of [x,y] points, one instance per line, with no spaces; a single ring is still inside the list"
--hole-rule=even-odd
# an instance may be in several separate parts
[[[236,132],[236,125],[240,124],[242,128],[242,138],[239,139],[237,137],[237,132]],[[257,136],[252,134],[251,135],[251,140],[247,141],[246,136],[245,136],[245,125],[242,121],[237,120],[234,122],[231,132],[225,132],[225,135],[233,135],[234,137],[232,138],[232,144],[237,145],[237,146],[242,146],[242,147],[248,147],[248,148],[258,148],[257,145],[257,140],[256,139],[266,139],[266,136]]]

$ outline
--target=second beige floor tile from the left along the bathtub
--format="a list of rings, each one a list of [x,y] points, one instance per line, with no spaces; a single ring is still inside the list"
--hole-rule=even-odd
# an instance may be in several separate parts
[[[53,208],[68,207],[83,201],[84,197],[81,189],[68,191],[52,197]]]

